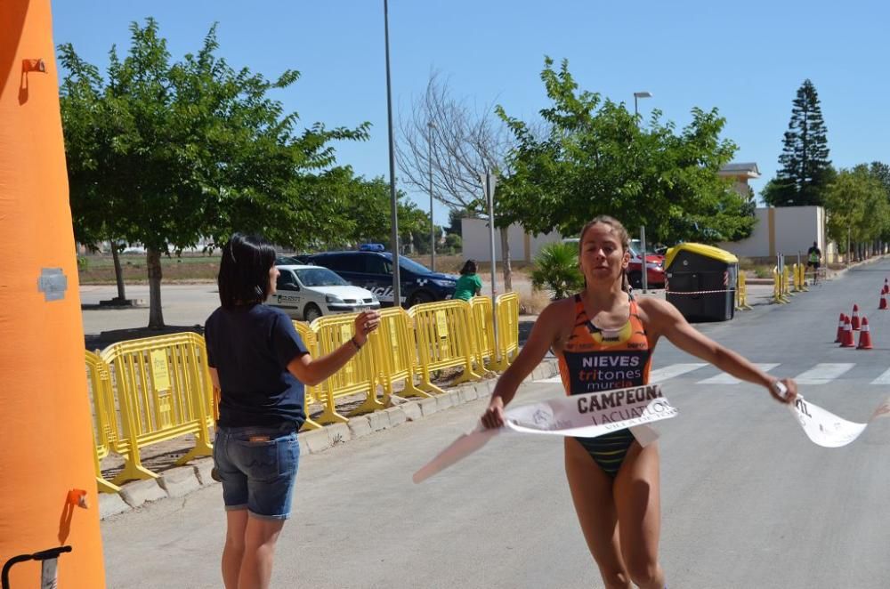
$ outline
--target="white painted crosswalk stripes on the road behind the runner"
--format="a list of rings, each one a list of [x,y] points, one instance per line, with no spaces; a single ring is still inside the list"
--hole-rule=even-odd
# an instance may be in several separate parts
[[[780,368],[781,364],[758,363],[756,364],[756,366],[764,372],[771,372],[773,370],[776,370],[776,368]],[[649,373],[649,382],[664,383],[665,381],[671,380],[672,378],[685,376],[686,378],[693,379],[696,384],[727,385],[741,383],[740,379],[736,378],[735,376],[727,375],[726,373],[720,372],[719,370],[717,370],[718,374],[714,375],[713,373],[715,370],[717,370],[715,367],[712,367],[711,365],[704,362],[679,362],[676,364],[669,364],[666,367],[653,369]],[[781,372],[782,377],[789,375],[789,371],[787,370],[777,370],[776,372]],[[819,364],[813,365],[813,367],[807,368],[803,372],[797,373],[797,375],[793,375],[792,378],[797,381],[797,384],[803,384],[806,386],[828,384],[838,379],[855,379],[860,382],[865,380],[868,381],[868,383],[870,384],[890,384],[890,368],[884,370],[884,372],[882,372],[877,377],[874,377],[875,372],[875,367],[862,367],[862,370],[857,370],[856,364],[853,362],[821,362]],[[708,376],[705,376],[706,373],[708,374]],[[552,378],[546,378],[535,382],[560,383],[561,380],[559,375],[556,375]]]

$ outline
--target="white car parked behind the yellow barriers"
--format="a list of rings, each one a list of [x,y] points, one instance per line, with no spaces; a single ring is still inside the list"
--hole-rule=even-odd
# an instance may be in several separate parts
[[[278,266],[276,294],[266,302],[295,319],[312,322],[333,313],[380,309],[376,294],[352,286],[333,270],[321,266]]]

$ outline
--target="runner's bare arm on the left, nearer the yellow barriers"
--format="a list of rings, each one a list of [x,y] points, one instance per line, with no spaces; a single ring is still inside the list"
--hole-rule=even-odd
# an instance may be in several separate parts
[[[482,424],[485,427],[504,425],[504,407],[513,400],[520,383],[538,366],[556,340],[557,326],[561,324],[561,303],[551,303],[541,311],[538,320],[531,327],[529,340],[522,346],[513,364],[498,378],[495,391],[491,393],[489,407],[482,415]]]

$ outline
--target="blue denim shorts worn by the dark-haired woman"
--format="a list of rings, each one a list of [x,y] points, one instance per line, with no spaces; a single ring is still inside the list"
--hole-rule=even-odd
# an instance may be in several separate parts
[[[299,462],[295,424],[216,430],[214,465],[226,511],[247,509],[264,520],[287,520]]]

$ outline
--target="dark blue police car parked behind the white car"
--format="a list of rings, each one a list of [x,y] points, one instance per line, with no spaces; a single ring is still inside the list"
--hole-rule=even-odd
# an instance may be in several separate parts
[[[369,244],[357,252],[326,252],[305,257],[306,262],[336,271],[351,284],[376,294],[381,304],[392,306],[392,253],[382,250],[379,244]],[[401,256],[399,278],[401,303],[408,307],[448,300],[457,285],[457,276],[433,272]]]

